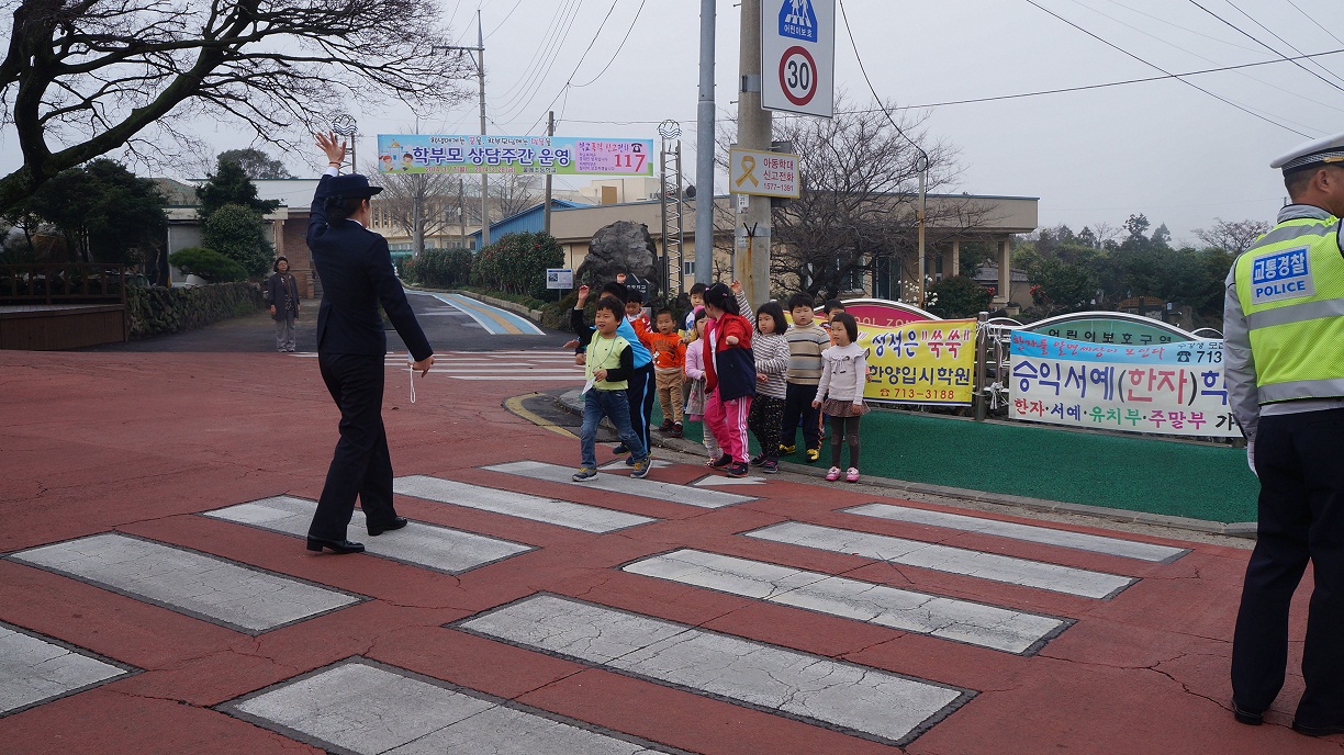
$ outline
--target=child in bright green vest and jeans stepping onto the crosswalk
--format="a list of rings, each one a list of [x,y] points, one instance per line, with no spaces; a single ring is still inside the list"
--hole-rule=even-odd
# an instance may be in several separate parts
[[[625,396],[628,380],[634,373],[634,352],[629,341],[616,335],[617,326],[625,318],[625,304],[614,297],[602,297],[597,302],[593,321],[597,332],[587,345],[583,386],[583,429],[579,430],[582,461],[574,473],[575,482],[597,477],[597,426],[602,418],[612,420],[617,434],[630,449],[634,469],[630,477],[644,477],[649,473],[649,451],[644,447],[634,429],[630,427],[630,403]]]

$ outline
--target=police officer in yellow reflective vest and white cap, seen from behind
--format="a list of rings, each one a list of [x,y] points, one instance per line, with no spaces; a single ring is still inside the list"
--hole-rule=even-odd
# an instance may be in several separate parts
[[[1288,609],[1312,562],[1293,728],[1344,732],[1344,134],[1275,160],[1292,204],[1232,263],[1228,402],[1259,477],[1259,525],[1232,639],[1232,715],[1259,724],[1284,685]]]

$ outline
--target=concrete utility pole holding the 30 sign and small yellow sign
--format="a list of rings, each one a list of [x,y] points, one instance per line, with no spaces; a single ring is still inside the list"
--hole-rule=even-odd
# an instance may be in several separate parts
[[[770,150],[770,112],[761,107],[761,0],[742,0],[742,51],[738,56],[738,146]],[[751,306],[770,298],[770,197],[749,196],[734,228],[732,277]],[[750,234],[750,235],[749,235]],[[698,245],[699,246],[699,245]]]

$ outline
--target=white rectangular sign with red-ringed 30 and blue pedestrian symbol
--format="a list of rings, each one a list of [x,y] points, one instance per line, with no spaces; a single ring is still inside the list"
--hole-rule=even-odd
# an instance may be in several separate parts
[[[835,0],[762,0],[762,107],[833,114],[835,11]]]

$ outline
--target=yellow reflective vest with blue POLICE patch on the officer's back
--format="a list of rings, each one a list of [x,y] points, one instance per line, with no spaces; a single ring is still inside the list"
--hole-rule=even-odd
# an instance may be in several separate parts
[[[1285,220],[1236,259],[1259,403],[1344,396],[1340,220]]]

